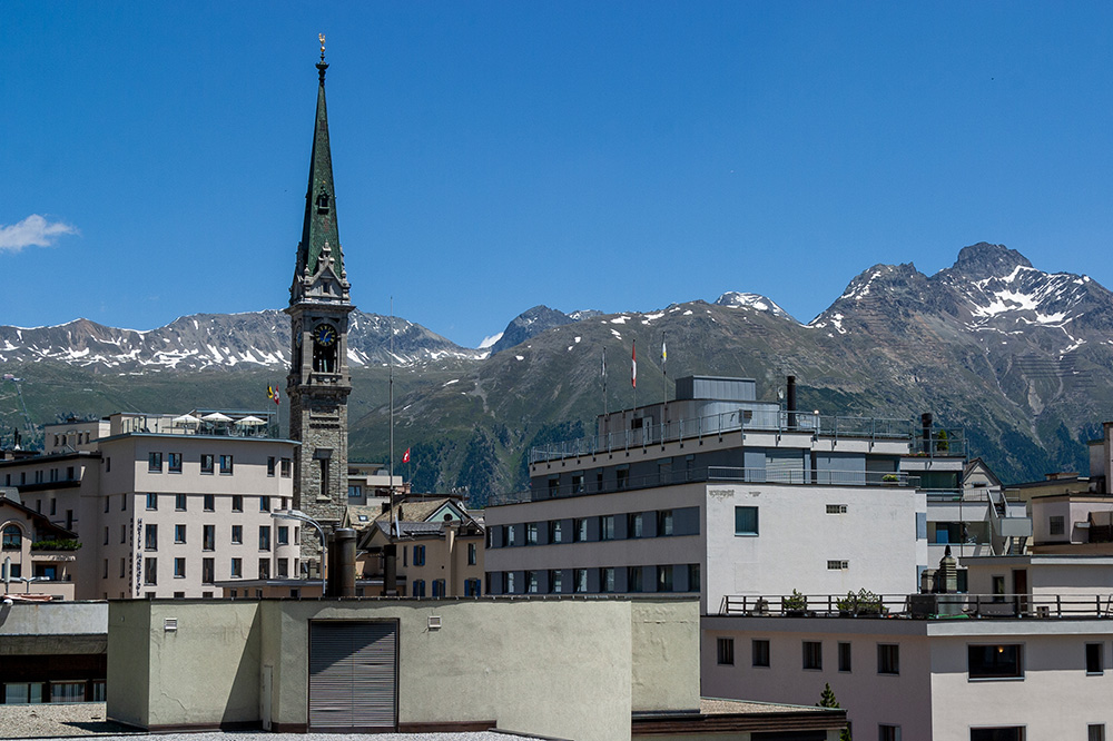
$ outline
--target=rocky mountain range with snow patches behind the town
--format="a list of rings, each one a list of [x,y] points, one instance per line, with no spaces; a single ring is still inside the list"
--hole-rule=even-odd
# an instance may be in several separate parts
[[[909,421],[933,412],[963,426],[972,455],[1007,482],[1084,473],[1085,442],[1113,418],[1111,329],[1113,294],[1103,286],[986,243],[930,276],[912,264],[875,265],[806,324],[770,298],[737,292],[649,313],[536,306],[472,349],[402,318],[355,312],[352,454],[388,455],[393,373],[395,438],[413,461],[402,473],[416,491],[466,487],[477,503],[514,491],[530,446],[590,434],[604,406],[633,404],[622,358],[632,342],[648,350],[667,334],[668,381],[656,349],[639,353],[641,403],[688,374],[752,377],[759,397],[772,398],[791,374],[800,408]],[[0,326],[0,363],[23,378],[38,424],[119,409],[257,408],[268,383],[284,385],[288,347],[278,310],[199,314],[148,332],[86,319]],[[10,386],[0,386],[8,428],[22,419]]]

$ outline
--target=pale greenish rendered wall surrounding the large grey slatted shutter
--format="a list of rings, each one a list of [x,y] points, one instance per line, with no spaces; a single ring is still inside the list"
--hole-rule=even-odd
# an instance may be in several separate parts
[[[176,600],[111,603],[108,715],[258,722],[269,669],[270,719],[304,728],[309,620],[398,622],[404,725],[494,720],[591,741],[629,738],[633,710],[699,704],[696,600]]]

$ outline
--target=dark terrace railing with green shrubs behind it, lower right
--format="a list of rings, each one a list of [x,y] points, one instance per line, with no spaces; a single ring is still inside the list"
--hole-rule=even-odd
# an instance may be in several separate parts
[[[846,594],[727,595],[720,615],[788,618],[1037,618],[1113,619],[1113,593],[1105,594]],[[925,609],[923,605],[929,605]]]

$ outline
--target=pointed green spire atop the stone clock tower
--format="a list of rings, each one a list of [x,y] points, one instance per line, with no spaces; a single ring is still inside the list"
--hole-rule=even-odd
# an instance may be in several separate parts
[[[297,280],[306,269],[317,271],[321,253],[328,244],[333,270],[344,271],[341,238],[336,227],[336,194],[333,190],[333,158],[328,151],[328,113],[325,109],[325,37],[321,36],[321,61],[317,62],[317,117],[313,124],[313,156],[309,160],[309,187],[305,192],[305,221],[302,244],[297,246]]]

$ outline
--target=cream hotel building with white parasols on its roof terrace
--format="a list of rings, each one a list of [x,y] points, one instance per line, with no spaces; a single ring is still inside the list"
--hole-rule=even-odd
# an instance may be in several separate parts
[[[265,416],[265,413],[263,413]],[[296,443],[250,412],[119,413],[46,427],[47,453],[0,484],[81,541],[76,599],[214,596],[216,581],[296,576]]]

